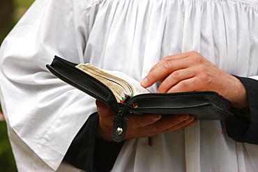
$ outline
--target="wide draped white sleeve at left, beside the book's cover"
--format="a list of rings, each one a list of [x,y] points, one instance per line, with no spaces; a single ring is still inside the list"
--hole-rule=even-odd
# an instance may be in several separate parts
[[[0,97],[19,171],[55,171],[95,101],[52,75],[54,55],[82,63],[91,1],[37,0],[3,41]]]

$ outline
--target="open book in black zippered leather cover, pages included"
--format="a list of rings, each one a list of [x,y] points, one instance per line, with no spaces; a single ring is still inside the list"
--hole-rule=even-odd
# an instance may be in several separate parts
[[[234,116],[230,111],[232,102],[214,91],[151,93],[122,72],[73,63],[59,56],[54,56],[46,67],[62,81],[105,102],[114,111],[114,141],[125,138],[130,114],[190,114],[197,120],[225,120]]]

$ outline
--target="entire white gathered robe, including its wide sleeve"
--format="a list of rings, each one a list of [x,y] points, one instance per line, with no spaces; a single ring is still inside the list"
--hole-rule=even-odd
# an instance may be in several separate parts
[[[141,81],[165,56],[197,51],[258,79],[256,0],[37,0],[0,50],[0,97],[19,171],[56,171],[95,100],[45,68],[54,55]],[[156,91],[158,85],[151,86]],[[126,141],[112,171],[258,171],[258,146],[219,121]]]

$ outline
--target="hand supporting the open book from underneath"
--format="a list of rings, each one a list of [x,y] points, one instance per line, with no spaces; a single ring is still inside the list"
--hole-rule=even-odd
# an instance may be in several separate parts
[[[96,106],[99,114],[99,125],[97,136],[107,141],[112,139],[112,126],[114,120],[114,111],[107,104],[96,100]],[[189,127],[197,123],[193,116],[171,115],[161,116],[159,114],[130,115],[128,119],[128,129],[126,138],[148,137],[165,132],[174,132]]]

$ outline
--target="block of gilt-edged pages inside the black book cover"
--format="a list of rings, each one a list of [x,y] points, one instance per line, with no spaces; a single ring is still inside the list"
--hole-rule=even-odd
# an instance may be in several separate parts
[[[112,91],[117,102],[123,102],[128,96],[133,97],[142,93],[151,93],[151,91],[142,87],[139,81],[122,72],[103,70],[89,63],[79,64],[75,67],[105,84]]]

